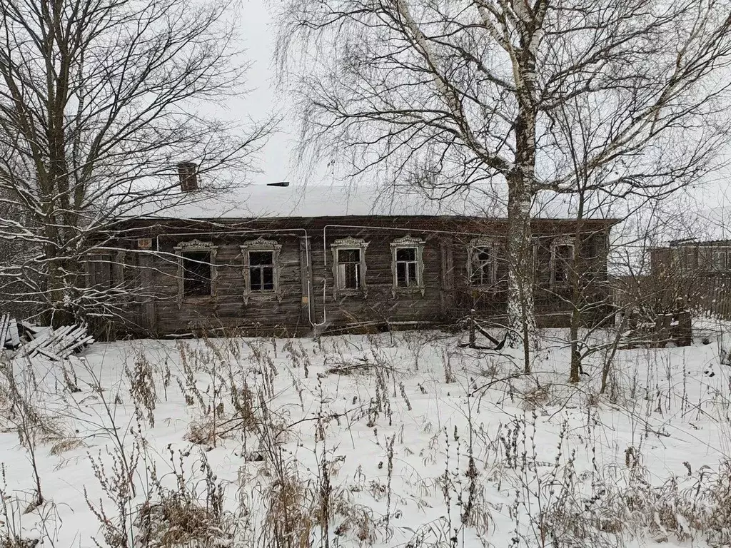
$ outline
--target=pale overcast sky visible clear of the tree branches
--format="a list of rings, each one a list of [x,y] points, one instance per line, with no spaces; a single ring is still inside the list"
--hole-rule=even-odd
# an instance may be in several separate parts
[[[265,113],[284,112],[282,101],[286,98],[277,98],[275,94],[276,82],[273,66],[273,50],[276,39],[276,28],[273,26],[270,8],[264,0],[242,0],[240,28],[246,59],[251,63],[248,73],[249,94],[243,95],[235,102],[231,102],[227,110],[220,111],[221,118],[234,118],[245,121],[247,117],[261,118]],[[731,106],[730,106],[731,108]],[[279,126],[279,132],[274,135],[264,151],[260,167],[262,173],[251,177],[254,183],[270,183],[280,180],[289,180],[293,185],[327,184],[332,179],[327,178],[325,170],[318,175],[303,175],[295,172],[295,162],[292,153],[295,149],[298,121],[289,113]],[[730,156],[731,157],[731,156]],[[307,180],[304,180],[307,179]],[[698,209],[731,206],[731,168],[727,167],[709,175],[707,180],[700,183],[693,190],[697,199]]]

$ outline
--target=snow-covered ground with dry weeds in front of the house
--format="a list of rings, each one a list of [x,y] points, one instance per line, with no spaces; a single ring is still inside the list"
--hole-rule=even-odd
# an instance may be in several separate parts
[[[530,376],[441,332],[5,359],[0,546],[727,546],[731,367],[699,327],[616,351],[602,395],[610,349],[567,384],[561,330]]]

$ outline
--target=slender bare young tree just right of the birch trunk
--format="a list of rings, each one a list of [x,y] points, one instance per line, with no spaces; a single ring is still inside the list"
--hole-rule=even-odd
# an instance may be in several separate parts
[[[600,117],[602,123],[614,126],[621,123],[621,110],[599,109],[592,102],[586,102],[586,96],[577,96],[564,104],[552,114],[552,135],[556,140],[556,163],[564,162],[573,173],[573,189],[571,193],[572,217],[575,218],[575,229],[569,235],[570,254],[567,281],[570,288],[568,294],[562,295],[571,305],[570,322],[571,368],[569,380],[579,381],[582,360],[596,351],[587,340],[591,338],[591,327],[609,323],[613,310],[608,300],[596,300],[597,294],[609,295],[608,291],[597,291],[602,285],[609,283],[603,274],[609,255],[613,255],[615,270],[620,259],[618,248],[629,251],[624,254],[621,270],[624,275],[646,275],[645,269],[636,272],[637,255],[646,255],[652,246],[653,237],[661,235],[664,230],[659,226],[661,218],[667,218],[664,210],[668,206],[675,209],[681,207],[678,191],[699,183],[702,175],[721,166],[714,161],[705,143],[694,139],[681,143],[664,142],[659,152],[643,153],[640,164],[633,168],[635,180],[641,180],[640,186],[627,184],[616,173],[607,172],[604,165],[591,162],[594,151],[607,148],[613,140],[611,132],[597,131],[600,127],[595,118]],[[721,121],[721,124],[724,123]],[[689,130],[690,131],[690,130]],[[662,141],[656,143],[659,145]],[[714,140],[715,142],[715,140]],[[716,142],[716,145],[719,143]],[[678,155],[682,161],[673,161],[672,155]],[[631,159],[625,159],[624,164]],[[666,212],[667,213],[667,212]],[[595,256],[591,253],[591,242],[597,236],[586,230],[586,221],[596,217],[612,217],[618,221],[616,228],[621,233],[613,237],[614,246],[607,240],[607,246],[595,246],[606,249],[607,253]],[[639,224],[647,225],[640,229]],[[608,237],[608,235],[606,235]],[[638,251],[640,250],[640,251]],[[633,258],[632,255],[635,255]],[[641,262],[643,257],[639,260]],[[640,305],[637,300],[629,300],[626,305]],[[598,316],[597,316],[597,313]],[[607,313],[609,315],[607,315]],[[591,327],[587,321],[590,321]],[[585,336],[580,338],[580,329],[590,327]]]

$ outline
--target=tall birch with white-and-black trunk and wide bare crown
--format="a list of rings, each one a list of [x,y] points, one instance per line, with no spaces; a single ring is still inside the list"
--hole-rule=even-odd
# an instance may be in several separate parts
[[[719,140],[727,1],[291,0],[277,20],[303,155],[395,184],[507,187],[512,346],[535,328],[537,194],[584,172],[602,174],[589,189],[669,192],[648,170],[687,171]],[[556,114],[579,99],[601,138],[580,164],[556,161]]]

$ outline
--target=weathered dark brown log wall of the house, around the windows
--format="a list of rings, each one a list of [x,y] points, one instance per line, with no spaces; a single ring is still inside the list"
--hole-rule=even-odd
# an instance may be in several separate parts
[[[505,230],[501,220],[466,218],[289,218],[270,221],[230,221],[228,229],[194,221],[178,221],[165,227],[157,224],[136,229],[138,235],[120,240],[121,248],[135,251],[137,237],[152,237],[151,251],[139,255],[138,279],[145,287],[138,310],[146,316],[148,329],[156,335],[243,327],[250,332],[303,334],[313,329],[367,324],[447,324],[466,316],[471,309],[488,317],[504,315],[507,308]],[[609,224],[587,227],[580,256],[587,257],[586,270],[597,280],[606,278],[606,233]],[[550,245],[556,237],[575,230],[570,221],[541,221],[534,224],[537,238],[537,313],[552,319],[544,324],[566,324],[570,310],[567,289],[550,285]],[[200,234],[192,236],[191,232]],[[266,232],[270,231],[270,232]],[[128,229],[129,233],[129,229]],[[423,240],[423,294],[393,291],[391,243],[410,236]],[[193,240],[216,246],[214,294],[178,297],[178,259],[175,246]],[[273,294],[243,297],[245,279],[240,245],[262,237],[281,245],[279,286],[281,299]],[[366,292],[333,293],[333,254],[330,245],[338,239],[363,238],[368,242]],[[498,243],[496,281],[487,290],[470,286],[467,261],[472,239],[487,237]],[[608,290],[596,283],[596,298]],[[592,297],[594,298],[594,297]],[[559,319],[554,316],[558,314]],[[562,316],[561,316],[562,315]],[[563,318],[563,319],[561,319]]]

